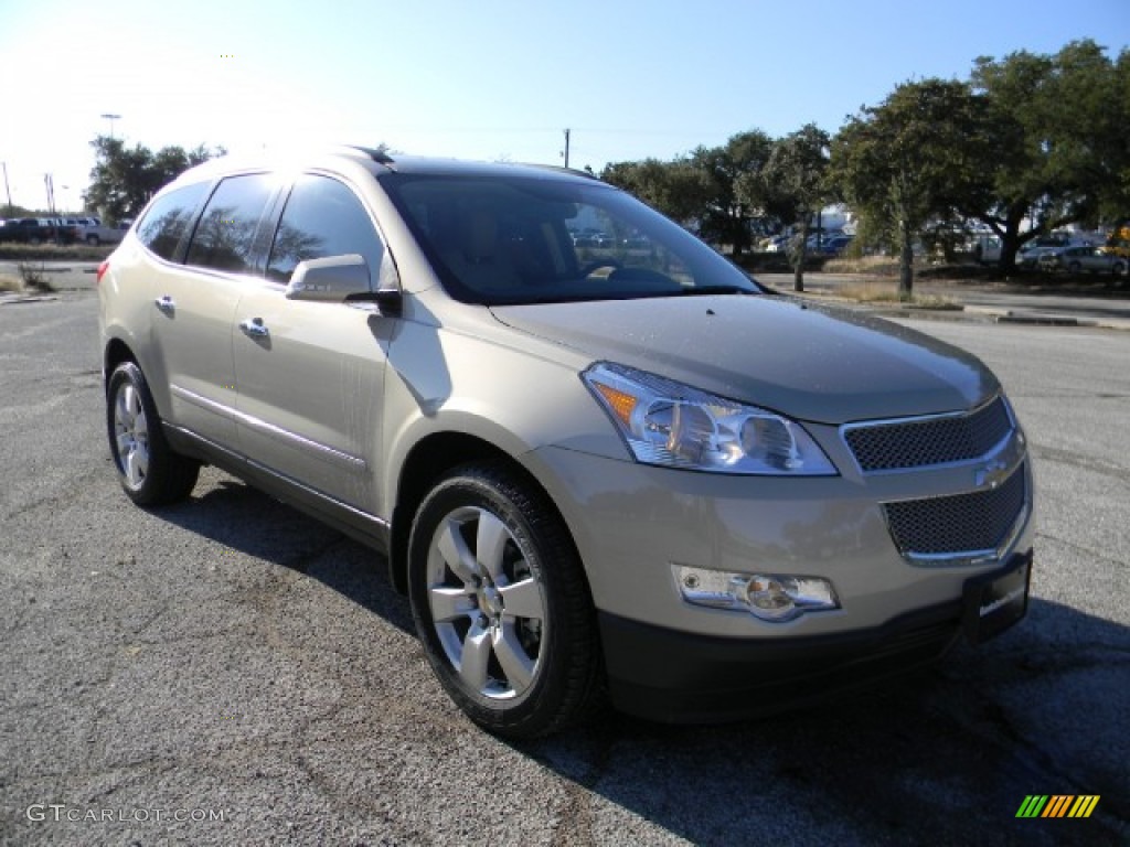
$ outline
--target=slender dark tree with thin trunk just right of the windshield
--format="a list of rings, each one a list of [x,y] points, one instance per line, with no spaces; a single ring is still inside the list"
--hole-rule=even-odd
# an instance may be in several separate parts
[[[809,123],[773,143],[773,151],[758,178],[759,197],[766,210],[784,224],[800,227],[793,262],[793,289],[805,290],[805,253],[808,225],[829,199],[826,175],[831,140],[828,133]],[[745,189],[747,182],[740,182]]]

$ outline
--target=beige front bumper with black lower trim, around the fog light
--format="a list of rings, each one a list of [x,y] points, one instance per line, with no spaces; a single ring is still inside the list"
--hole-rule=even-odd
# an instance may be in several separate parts
[[[962,632],[967,587],[1006,564],[1031,564],[1027,461],[1016,470],[1024,474],[1025,519],[1008,549],[999,560],[956,566],[907,560],[883,504],[968,494],[968,468],[727,478],[563,448],[530,454],[528,466],[560,508],[584,562],[614,704],[654,719],[773,711],[930,664]],[[767,622],[692,605],[673,565],[826,578],[841,608]]]

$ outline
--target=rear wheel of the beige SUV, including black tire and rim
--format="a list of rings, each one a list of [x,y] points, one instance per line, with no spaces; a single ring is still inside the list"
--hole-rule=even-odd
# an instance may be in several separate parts
[[[138,506],[183,500],[200,463],[174,453],[141,369],[123,361],[106,383],[106,435],[122,490]]]

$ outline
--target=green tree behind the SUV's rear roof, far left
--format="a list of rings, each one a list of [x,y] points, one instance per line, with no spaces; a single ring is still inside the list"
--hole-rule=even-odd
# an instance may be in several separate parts
[[[154,152],[141,145],[127,148],[121,139],[110,136],[98,136],[90,146],[95,149],[95,165],[84,200],[86,208],[97,210],[111,224],[137,217],[163,185],[225,152],[223,148],[209,150],[203,146],[188,151],[163,147]]]

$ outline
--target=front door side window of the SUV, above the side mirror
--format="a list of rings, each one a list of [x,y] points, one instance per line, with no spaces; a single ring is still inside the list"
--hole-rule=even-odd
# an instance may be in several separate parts
[[[275,234],[268,278],[286,282],[298,262],[346,253],[365,256],[375,282],[384,247],[360,201],[337,180],[301,176]]]

